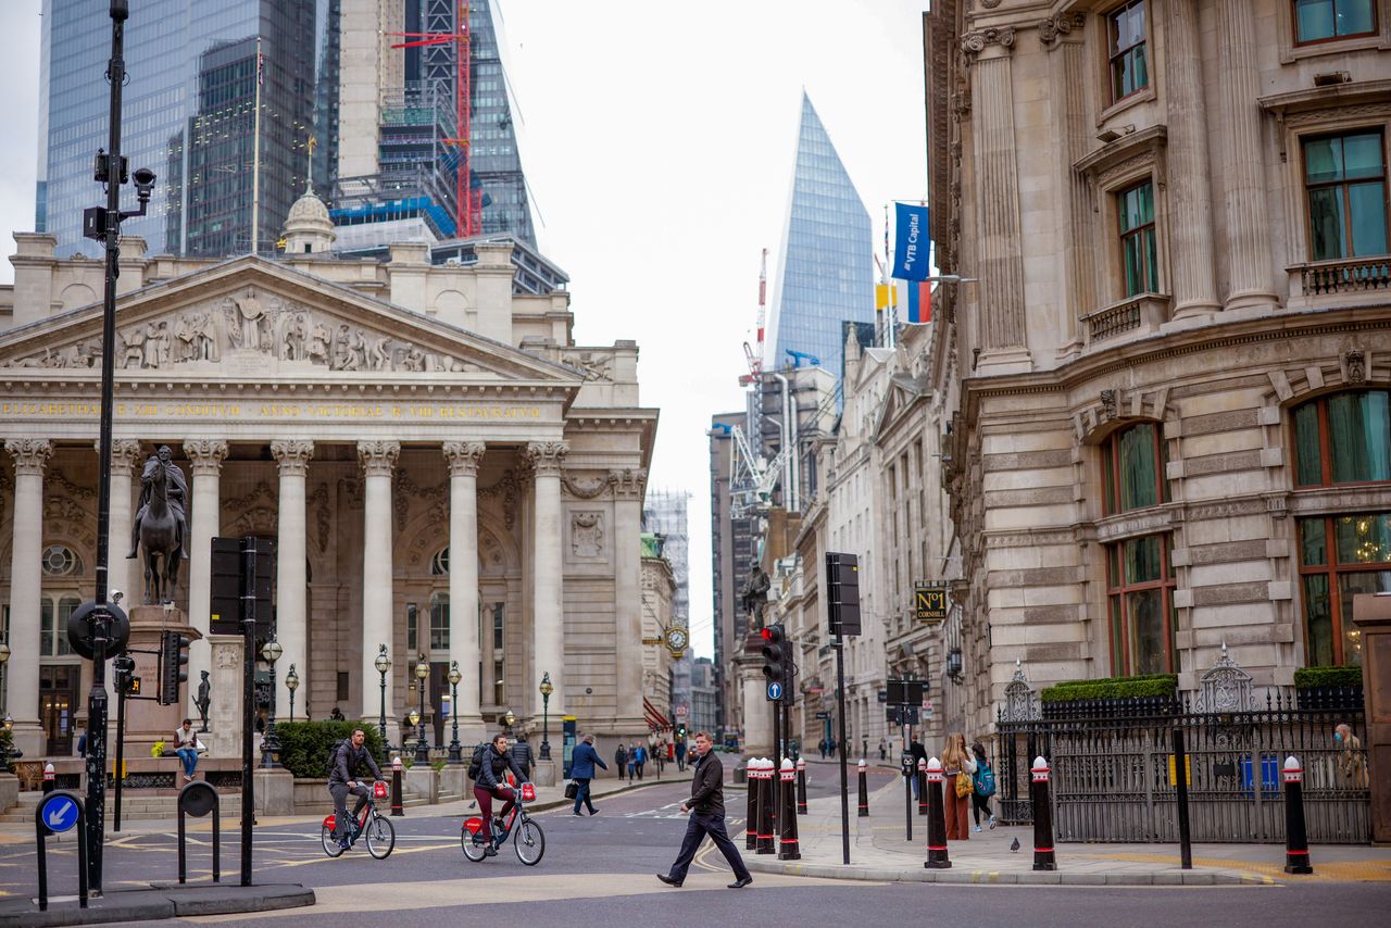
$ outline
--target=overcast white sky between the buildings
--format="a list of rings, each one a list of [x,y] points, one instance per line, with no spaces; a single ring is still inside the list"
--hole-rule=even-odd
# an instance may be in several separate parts
[[[885,205],[926,196],[928,3],[494,1],[538,242],[570,275],[574,339],[637,341],[641,402],[661,409],[648,486],[691,494],[691,641],[709,657],[705,430],[714,413],[743,408],[737,378],[743,345],[755,341],[759,253],[766,248],[775,267],[801,93],[869,210],[868,260],[883,246]],[[139,7],[131,0],[132,17]],[[6,253],[14,231],[33,227],[39,8],[0,0]],[[100,74],[93,92],[106,93]],[[99,196],[93,184],[93,203]],[[0,263],[0,282],[13,277]]]

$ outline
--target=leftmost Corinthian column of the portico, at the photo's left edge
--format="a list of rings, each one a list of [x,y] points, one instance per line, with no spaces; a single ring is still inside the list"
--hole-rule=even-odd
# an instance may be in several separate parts
[[[28,757],[43,755],[39,728],[39,591],[43,583],[43,470],[53,456],[46,438],[11,438],[14,456],[14,545],[10,559],[10,662],[6,712],[14,718],[14,744]]]

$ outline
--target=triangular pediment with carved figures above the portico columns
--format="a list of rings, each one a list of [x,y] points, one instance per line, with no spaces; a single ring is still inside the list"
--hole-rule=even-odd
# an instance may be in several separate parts
[[[115,314],[118,377],[580,383],[512,345],[253,256],[125,294]],[[0,335],[0,367],[96,373],[100,356],[100,303]]]

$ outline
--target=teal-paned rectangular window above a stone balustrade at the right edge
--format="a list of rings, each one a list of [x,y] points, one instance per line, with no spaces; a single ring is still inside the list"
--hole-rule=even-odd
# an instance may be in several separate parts
[[[1381,129],[1303,141],[1309,259],[1387,253],[1387,168]]]

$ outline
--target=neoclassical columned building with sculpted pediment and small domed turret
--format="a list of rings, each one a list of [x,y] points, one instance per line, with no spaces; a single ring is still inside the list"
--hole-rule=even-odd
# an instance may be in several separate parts
[[[637,345],[580,346],[563,289],[513,287],[512,245],[433,266],[423,245],[338,260],[312,196],[282,260],[146,256],[124,239],[111,459],[111,587],[140,600],[127,561],[140,466],[167,444],[189,483],[189,551],[175,605],[214,679],[214,754],[232,753],[236,637],[209,634],[210,544],[277,543],[277,714],[377,721],[419,704],[438,722],[463,672],[460,736],[505,710],[552,730],[636,737],[643,714],[640,530],[657,410],[638,402]],[[0,288],[0,601],[11,650],[6,711],[32,757],[71,753],[89,666],[67,615],[96,561],[103,267],[15,235]],[[153,689],[153,680],[147,680]],[[192,714],[188,696],[184,705]],[[437,726],[437,732],[442,732]],[[438,737],[438,735],[437,735]],[[442,735],[448,742],[448,733]]]

